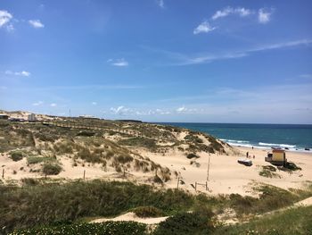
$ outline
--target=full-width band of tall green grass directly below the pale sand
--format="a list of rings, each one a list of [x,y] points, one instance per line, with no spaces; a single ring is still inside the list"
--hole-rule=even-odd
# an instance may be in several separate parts
[[[234,194],[218,197],[192,195],[178,189],[159,189],[119,181],[25,181],[29,181],[29,185],[22,188],[0,186],[0,233],[84,222],[89,217],[115,216],[135,211],[135,208],[144,212],[141,206],[153,206],[155,214],[162,215],[190,210],[200,212],[201,217],[196,222],[205,221],[202,216],[211,219],[213,214],[222,214],[228,208],[234,210],[237,217],[243,218],[248,214],[289,206],[312,195],[311,189],[287,191],[267,185],[259,186],[260,197],[254,198]],[[147,212],[151,213],[151,208]]]

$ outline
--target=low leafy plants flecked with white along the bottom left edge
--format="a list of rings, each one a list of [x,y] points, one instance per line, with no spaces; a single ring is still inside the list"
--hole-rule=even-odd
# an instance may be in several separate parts
[[[146,225],[139,222],[101,222],[101,223],[74,223],[55,227],[41,227],[20,231],[13,231],[11,235],[55,235],[55,234],[113,234],[113,235],[144,235]]]

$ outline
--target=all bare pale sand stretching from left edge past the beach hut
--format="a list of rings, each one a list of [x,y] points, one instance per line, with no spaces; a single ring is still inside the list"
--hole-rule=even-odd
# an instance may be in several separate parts
[[[267,178],[259,175],[261,166],[269,165],[265,162],[265,156],[270,149],[249,148],[249,147],[235,147],[240,151],[240,155],[218,155],[201,153],[200,158],[196,159],[196,164],[191,164],[190,159],[187,159],[179,151],[174,149],[166,155],[151,153],[143,148],[137,148],[136,151],[141,155],[149,157],[157,164],[161,164],[164,167],[168,167],[171,172],[177,172],[180,179],[179,188],[189,190],[191,193],[195,193],[195,183],[205,184],[208,182],[209,190],[206,191],[204,185],[197,185],[197,192],[204,192],[211,195],[218,194],[231,194],[238,193],[241,195],[256,196],[254,194],[253,187],[259,183],[265,183],[274,185],[283,189],[301,189],[305,187],[307,181],[312,180],[312,154],[300,153],[300,152],[286,152],[288,161],[297,164],[302,168],[300,171],[292,173],[276,171],[278,177]],[[251,166],[245,166],[238,164],[237,160],[244,158],[246,152],[251,155],[253,164]],[[253,155],[255,158],[253,159]],[[0,161],[5,166],[4,176],[6,180],[21,180],[22,178],[43,177],[42,173],[29,172],[29,169],[25,167],[23,159],[20,162],[13,162],[6,156],[1,155]],[[73,167],[70,158],[60,158],[62,162],[63,170],[57,176],[49,176],[53,179],[82,179],[83,173],[86,171],[86,180],[103,179],[103,180],[122,180],[119,174],[114,171],[103,171],[101,165],[98,164],[86,164],[85,166],[79,165]],[[209,179],[208,175],[208,163],[209,163]],[[21,171],[21,167],[24,169]],[[14,173],[15,171],[15,173]],[[17,173],[16,173],[17,172]],[[151,173],[143,172],[131,172],[127,176],[127,180],[134,180],[138,183],[149,183],[147,178],[152,176]],[[174,173],[171,175],[171,180],[164,184],[165,188],[177,188],[177,177]]]

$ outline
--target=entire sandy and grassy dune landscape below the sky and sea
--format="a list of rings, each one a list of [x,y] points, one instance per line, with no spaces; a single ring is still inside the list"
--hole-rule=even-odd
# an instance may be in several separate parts
[[[296,169],[280,171],[265,162],[267,149],[184,128],[5,115],[0,234],[271,234],[259,224],[280,217],[300,224],[291,232],[310,231],[309,154],[288,152]],[[246,152],[251,166],[237,163]],[[307,207],[293,219],[291,205]],[[270,228],[285,231],[280,222]]]

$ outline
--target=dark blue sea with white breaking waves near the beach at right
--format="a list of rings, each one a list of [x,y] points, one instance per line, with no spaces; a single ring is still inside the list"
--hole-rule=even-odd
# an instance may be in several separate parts
[[[298,151],[309,148],[312,151],[312,125],[185,122],[162,124],[206,132],[234,146],[288,147]]]

